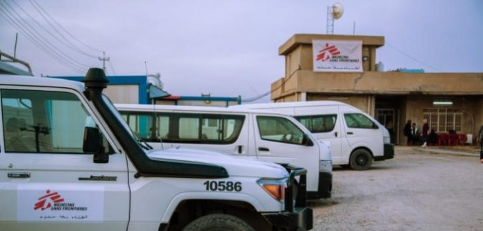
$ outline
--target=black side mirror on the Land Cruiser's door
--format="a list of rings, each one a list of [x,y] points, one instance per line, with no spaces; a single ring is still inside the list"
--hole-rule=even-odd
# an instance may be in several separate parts
[[[82,150],[84,153],[94,154],[94,163],[104,164],[109,162],[109,154],[104,151],[101,134],[99,129],[95,127],[86,126],[84,128]]]

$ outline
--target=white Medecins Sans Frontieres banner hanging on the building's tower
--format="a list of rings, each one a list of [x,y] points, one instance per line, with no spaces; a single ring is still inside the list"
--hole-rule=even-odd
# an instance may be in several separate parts
[[[363,72],[362,41],[314,40],[314,72]]]

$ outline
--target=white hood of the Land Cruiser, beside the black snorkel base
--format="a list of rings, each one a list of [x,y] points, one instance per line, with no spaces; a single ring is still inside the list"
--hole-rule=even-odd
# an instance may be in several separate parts
[[[246,159],[233,157],[223,153],[204,151],[192,148],[166,148],[147,153],[150,159],[155,160],[180,160],[186,162],[198,162],[213,164],[224,167],[228,175],[239,177],[261,177],[261,178],[284,178],[288,173],[279,164],[261,161],[258,159]]]

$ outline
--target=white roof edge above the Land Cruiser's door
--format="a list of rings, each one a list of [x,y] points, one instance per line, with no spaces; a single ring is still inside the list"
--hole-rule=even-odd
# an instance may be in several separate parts
[[[62,87],[83,91],[81,82],[40,76],[17,76],[0,74],[0,85],[23,85],[38,87]]]

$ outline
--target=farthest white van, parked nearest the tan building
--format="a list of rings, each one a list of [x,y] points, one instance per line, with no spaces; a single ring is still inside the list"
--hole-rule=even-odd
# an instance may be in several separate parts
[[[394,146],[387,129],[371,115],[344,102],[277,102],[243,104],[232,108],[239,107],[293,115],[317,139],[330,143],[334,165],[366,170],[371,168],[373,160],[394,157]]]

